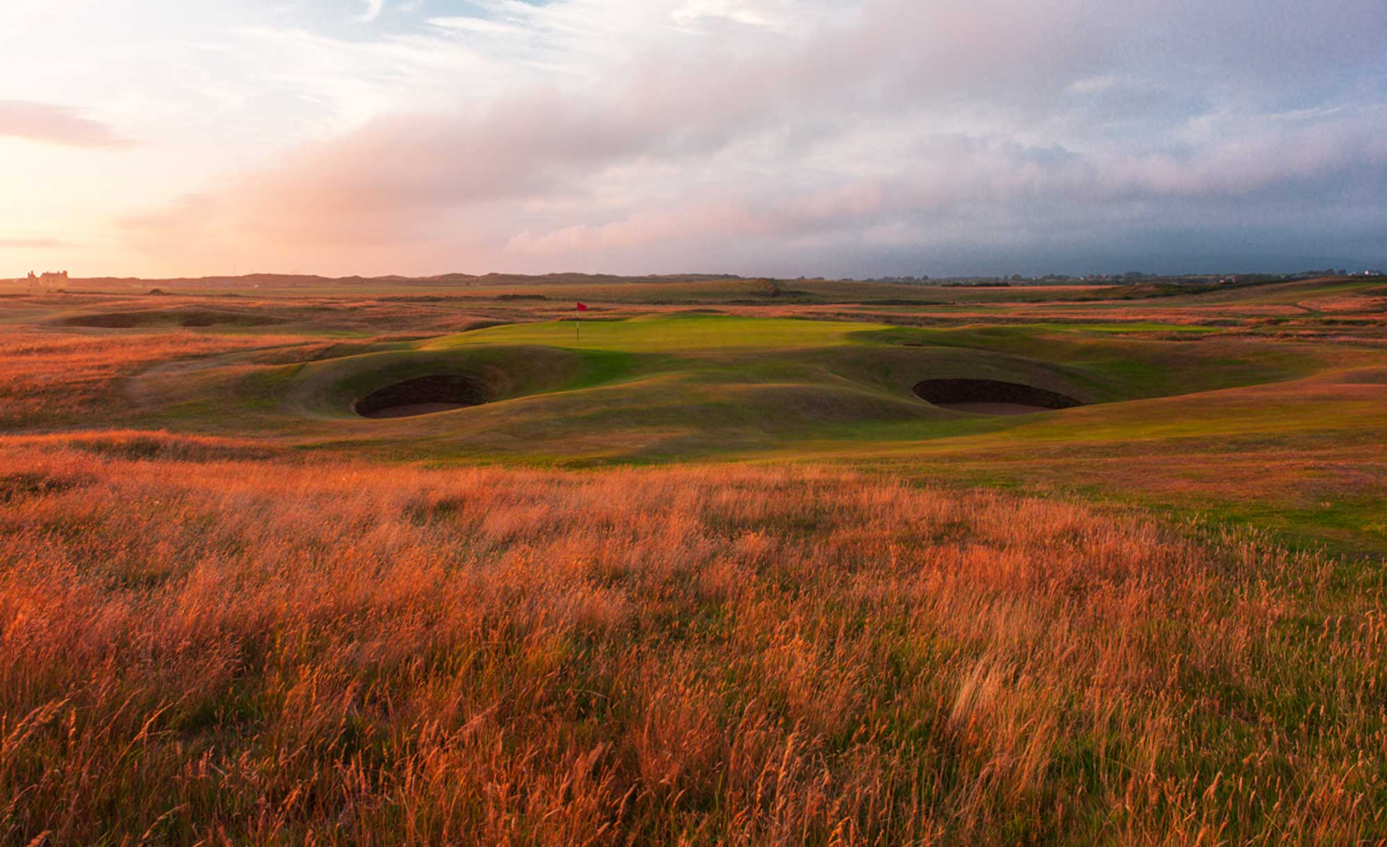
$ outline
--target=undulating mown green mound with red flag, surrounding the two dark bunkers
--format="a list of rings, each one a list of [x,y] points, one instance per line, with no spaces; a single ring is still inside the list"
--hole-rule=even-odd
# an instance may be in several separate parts
[[[1082,428],[1104,431],[1129,401],[1286,380],[1323,366],[1305,347],[1254,348],[1223,337],[1187,344],[1117,329],[918,329],[684,312],[585,320],[580,335],[573,322],[531,322],[315,348],[313,360],[288,365],[244,356],[173,372],[153,423],[420,459],[821,455],[958,437],[1008,444],[1042,431],[1028,416],[964,417],[921,403],[915,390],[927,381],[1031,387],[1036,392],[1028,396],[1040,401],[1031,405],[1065,409],[1064,416],[1079,412],[1068,406],[1101,403],[1083,409]],[[388,426],[368,426],[358,414],[363,398],[427,385],[415,383],[422,378],[456,380],[466,396],[440,401],[426,391],[420,402],[467,408]]]

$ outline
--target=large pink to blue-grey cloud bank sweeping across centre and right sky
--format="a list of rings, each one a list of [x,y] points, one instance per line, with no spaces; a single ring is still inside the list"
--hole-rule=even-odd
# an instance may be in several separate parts
[[[129,232],[361,272],[1380,252],[1387,78],[1356,37],[1380,0],[1269,1],[487,0],[408,46],[438,68],[484,39],[519,82],[304,143]]]

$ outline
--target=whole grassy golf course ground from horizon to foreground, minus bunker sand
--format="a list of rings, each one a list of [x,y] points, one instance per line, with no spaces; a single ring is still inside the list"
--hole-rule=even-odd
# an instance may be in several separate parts
[[[229,286],[0,286],[0,843],[1387,837],[1380,283]]]

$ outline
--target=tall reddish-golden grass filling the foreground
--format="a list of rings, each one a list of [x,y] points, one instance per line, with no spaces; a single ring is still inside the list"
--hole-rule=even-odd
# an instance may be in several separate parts
[[[822,467],[172,441],[0,453],[3,841],[1387,835],[1376,571]]]

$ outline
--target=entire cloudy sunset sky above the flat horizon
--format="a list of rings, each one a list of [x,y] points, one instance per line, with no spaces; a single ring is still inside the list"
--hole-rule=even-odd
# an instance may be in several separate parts
[[[0,0],[0,276],[1387,265],[1384,0]]]

